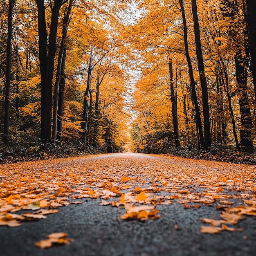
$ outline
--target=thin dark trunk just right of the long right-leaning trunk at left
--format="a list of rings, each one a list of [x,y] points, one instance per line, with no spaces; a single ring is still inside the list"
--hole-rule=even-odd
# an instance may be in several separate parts
[[[58,93],[58,119],[57,119],[57,140],[62,141],[62,126],[64,112],[64,92],[65,92],[65,64],[66,64],[66,47],[64,47],[62,63],[61,63],[61,80]]]

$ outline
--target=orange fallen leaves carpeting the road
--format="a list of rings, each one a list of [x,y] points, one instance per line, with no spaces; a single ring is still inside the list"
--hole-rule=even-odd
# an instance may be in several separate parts
[[[243,216],[256,216],[255,168],[179,157],[117,154],[73,157],[0,166],[0,225],[17,227],[47,218],[59,207],[100,198],[101,205],[125,209],[122,220],[160,218],[158,204],[184,208],[215,206],[220,220],[203,218],[202,233],[241,231]],[[232,207],[236,200],[243,204]],[[28,211],[17,214],[19,211]],[[49,236],[41,247],[59,240]],[[64,240],[63,240],[64,239]],[[39,245],[39,244],[37,244]]]

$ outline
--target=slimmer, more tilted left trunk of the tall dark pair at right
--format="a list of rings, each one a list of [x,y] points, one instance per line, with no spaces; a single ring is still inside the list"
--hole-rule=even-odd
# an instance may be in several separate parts
[[[188,67],[189,67],[189,78],[190,78],[190,83],[191,83],[191,91],[192,91],[193,102],[194,102],[194,105],[195,105],[195,116],[196,116],[196,125],[197,125],[197,129],[198,129],[198,134],[199,134],[199,144],[200,144],[200,148],[204,148],[204,135],[203,135],[203,129],[202,129],[202,121],[201,121],[201,116],[200,116],[200,109],[199,109],[199,106],[198,106],[198,99],[197,99],[197,96],[196,96],[195,79],[194,79],[194,75],[193,75],[193,67],[192,67],[190,56],[189,56],[189,45],[188,45],[188,35],[187,35],[185,10],[184,10],[184,5],[183,5],[183,0],[179,0],[179,2],[180,2],[180,8],[181,8],[181,11],[182,11],[185,56],[186,56],[186,60],[188,62]]]

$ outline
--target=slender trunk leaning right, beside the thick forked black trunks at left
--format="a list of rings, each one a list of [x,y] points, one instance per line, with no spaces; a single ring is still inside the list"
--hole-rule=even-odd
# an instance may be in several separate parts
[[[62,26],[62,38],[61,38],[61,46],[58,54],[58,64],[56,71],[56,79],[54,86],[54,97],[53,97],[53,120],[52,120],[52,140],[54,144],[56,144],[57,140],[57,119],[58,119],[58,99],[59,99],[59,87],[61,80],[61,65],[64,53],[64,47],[66,47],[66,38],[67,38],[67,26],[69,23],[69,17],[72,9],[73,0],[70,0],[69,6],[65,9],[64,17],[63,17],[63,26]]]

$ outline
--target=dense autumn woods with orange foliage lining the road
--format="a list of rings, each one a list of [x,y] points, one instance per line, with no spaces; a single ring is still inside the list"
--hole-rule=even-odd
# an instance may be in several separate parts
[[[253,152],[254,0],[0,7],[1,154]]]

